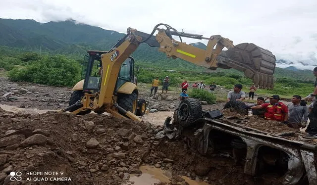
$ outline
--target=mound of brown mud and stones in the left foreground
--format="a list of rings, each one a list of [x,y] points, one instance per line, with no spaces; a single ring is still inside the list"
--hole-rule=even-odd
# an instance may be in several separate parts
[[[138,170],[142,158],[157,142],[151,138],[154,129],[150,123],[97,114],[0,110],[0,184],[9,183],[8,174],[19,171],[25,184],[48,178],[44,183],[119,185],[129,180],[130,173],[142,173]]]

